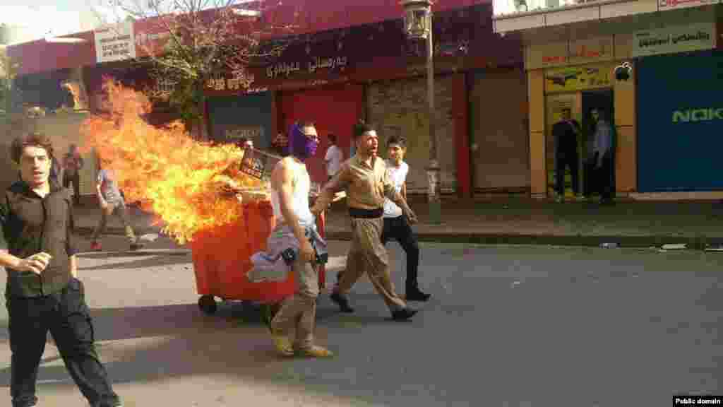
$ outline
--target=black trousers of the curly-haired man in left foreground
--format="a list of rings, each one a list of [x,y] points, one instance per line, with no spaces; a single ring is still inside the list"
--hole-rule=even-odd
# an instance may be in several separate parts
[[[93,407],[120,405],[93,345],[93,322],[84,287],[72,279],[59,293],[44,297],[10,297],[10,395],[13,407],[35,406],[38,366],[50,330],[70,376]]]

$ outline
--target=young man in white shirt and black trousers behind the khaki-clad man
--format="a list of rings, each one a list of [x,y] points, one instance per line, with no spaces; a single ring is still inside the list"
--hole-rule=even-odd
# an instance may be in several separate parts
[[[387,173],[390,181],[398,193],[406,199],[406,176],[409,166],[404,162],[406,153],[406,140],[393,136],[388,142],[389,159],[387,160]],[[407,301],[427,301],[431,295],[419,290],[417,269],[419,268],[419,244],[416,236],[407,222],[406,216],[399,206],[389,198],[384,201],[384,229],[382,230],[382,244],[389,240],[397,240],[406,253],[407,275],[405,293]]]

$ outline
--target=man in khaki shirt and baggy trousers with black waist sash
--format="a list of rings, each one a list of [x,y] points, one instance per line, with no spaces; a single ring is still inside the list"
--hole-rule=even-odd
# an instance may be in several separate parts
[[[389,276],[387,250],[382,245],[384,198],[388,197],[397,204],[410,223],[416,223],[416,215],[401,194],[396,192],[387,175],[384,160],[377,156],[379,140],[376,131],[360,122],[354,127],[354,143],[356,155],[341,164],[341,169],[325,185],[312,208],[313,213],[319,214],[333,201],[335,193],[346,190],[352,240],[346,270],[341,274],[331,300],[341,311],[354,312],[348,304],[346,293],[361,274],[367,272],[375,290],[389,307],[392,318],[397,321],[410,319],[417,311],[408,308],[406,302],[395,293]]]

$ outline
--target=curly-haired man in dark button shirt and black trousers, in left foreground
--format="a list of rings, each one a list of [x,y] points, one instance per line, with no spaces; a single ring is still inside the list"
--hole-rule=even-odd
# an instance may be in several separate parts
[[[121,405],[95,351],[93,322],[78,279],[72,203],[50,181],[50,140],[40,133],[13,141],[20,180],[0,202],[0,266],[10,334],[10,394],[13,407],[38,403],[35,384],[48,330],[70,376],[92,407]]]

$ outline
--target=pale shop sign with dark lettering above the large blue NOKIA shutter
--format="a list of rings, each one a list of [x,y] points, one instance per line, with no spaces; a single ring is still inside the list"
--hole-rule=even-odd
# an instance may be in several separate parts
[[[716,28],[712,22],[638,31],[633,37],[633,50],[630,56],[675,54],[713,49],[716,46],[715,33]]]

